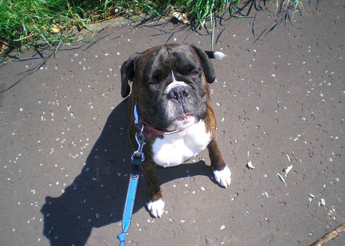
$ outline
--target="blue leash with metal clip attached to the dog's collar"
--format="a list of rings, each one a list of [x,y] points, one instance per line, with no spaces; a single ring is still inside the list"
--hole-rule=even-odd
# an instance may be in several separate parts
[[[135,123],[138,124],[138,110],[137,105],[134,106],[134,117]],[[133,213],[134,202],[136,200],[136,192],[138,186],[138,180],[140,176],[140,165],[145,159],[144,153],[142,152],[142,147],[145,144],[145,135],[143,134],[144,125],[142,125],[140,132],[136,133],[136,140],[138,143],[138,150],[136,150],[132,155],[132,169],[130,173],[130,180],[128,184],[125,209],[123,211],[122,217],[122,232],[117,235],[117,239],[120,241],[120,246],[125,245],[126,233],[131,223],[131,217]]]

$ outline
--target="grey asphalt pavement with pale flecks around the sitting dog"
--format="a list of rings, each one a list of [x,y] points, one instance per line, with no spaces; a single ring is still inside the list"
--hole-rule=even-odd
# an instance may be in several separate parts
[[[345,221],[345,2],[309,7],[256,42],[274,7],[255,37],[248,19],[218,23],[214,50],[228,56],[213,61],[211,105],[232,184],[215,184],[207,151],[159,168],[156,219],[140,178],[128,245],[307,246]],[[0,64],[1,246],[118,244],[132,154],[119,66],[164,43],[210,50],[205,30],[181,27],[109,27],[92,44]],[[344,236],[327,244],[338,245]]]

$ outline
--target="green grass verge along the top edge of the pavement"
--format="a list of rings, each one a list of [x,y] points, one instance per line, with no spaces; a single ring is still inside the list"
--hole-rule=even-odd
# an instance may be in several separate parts
[[[169,17],[174,11],[185,13],[193,26],[206,28],[213,33],[215,19],[229,8],[253,0],[0,0],[0,48],[4,53],[25,46],[55,46],[76,40],[74,29],[85,28],[117,16],[132,18]],[[277,14],[292,10],[293,14],[307,0],[271,0],[276,3]],[[80,37],[78,37],[80,38]],[[0,54],[1,56],[1,54]]]

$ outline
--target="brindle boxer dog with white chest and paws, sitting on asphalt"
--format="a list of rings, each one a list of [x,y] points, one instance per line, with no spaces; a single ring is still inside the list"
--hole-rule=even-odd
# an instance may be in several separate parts
[[[162,216],[165,205],[156,165],[179,165],[207,147],[215,180],[225,188],[230,185],[231,172],[216,142],[208,87],[215,81],[210,59],[223,57],[222,52],[203,51],[193,44],[166,44],[136,53],[121,66],[122,97],[130,94],[133,82],[128,128],[133,150],[138,149],[135,135],[144,126],[141,170],[147,184],[146,205],[155,217]],[[140,126],[134,123],[135,105]]]

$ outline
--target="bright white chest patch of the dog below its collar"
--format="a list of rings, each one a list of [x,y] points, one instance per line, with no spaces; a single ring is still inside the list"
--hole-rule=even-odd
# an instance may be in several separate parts
[[[163,167],[179,165],[204,150],[210,135],[204,121],[199,121],[182,131],[157,138],[152,145],[153,160]]]

